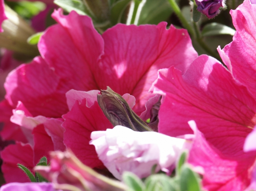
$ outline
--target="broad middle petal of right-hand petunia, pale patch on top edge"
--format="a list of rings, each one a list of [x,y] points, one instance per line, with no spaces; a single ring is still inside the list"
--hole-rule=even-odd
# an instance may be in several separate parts
[[[243,152],[243,144],[256,122],[256,101],[247,87],[216,59],[202,55],[183,76],[174,67],[160,70],[153,89],[166,95],[159,111],[159,132],[171,136],[192,133],[187,122],[195,120],[207,142],[229,157],[230,163],[236,163],[236,174],[230,174],[233,178],[221,180],[222,172],[216,170],[213,186],[218,181],[219,188],[248,184],[248,169],[255,157]]]

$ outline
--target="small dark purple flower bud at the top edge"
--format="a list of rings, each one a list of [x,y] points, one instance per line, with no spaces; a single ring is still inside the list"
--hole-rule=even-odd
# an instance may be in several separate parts
[[[215,17],[220,7],[224,7],[224,0],[195,0],[197,10],[206,15],[209,19]]]

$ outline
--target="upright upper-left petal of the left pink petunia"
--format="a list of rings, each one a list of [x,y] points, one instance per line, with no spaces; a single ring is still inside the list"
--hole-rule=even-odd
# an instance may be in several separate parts
[[[42,35],[38,44],[42,57],[69,89],[99,89],[94,67],[103,53],[103,39],[92,20],[74,11],[63,15],[61,9],[55,10],[52,17],[59,24]]]

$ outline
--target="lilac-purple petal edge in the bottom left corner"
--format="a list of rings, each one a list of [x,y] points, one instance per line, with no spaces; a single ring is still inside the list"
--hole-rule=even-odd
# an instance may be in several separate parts
[[[9,183],[1,186],[0,191],[57,191],[52,183]]]

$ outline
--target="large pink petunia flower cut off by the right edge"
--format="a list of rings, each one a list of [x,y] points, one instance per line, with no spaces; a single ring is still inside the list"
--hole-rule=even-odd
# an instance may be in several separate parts
[[[159,132],[191,133],[187,122],[195,120],[202,136],[196,137],[189,162],[204,168],[207,190],[244,190],[255,166],[256,152],[243,151],[256,124],[255,12],[249,0],[231,11],[236,34],[224,51],[218,49],[228,69],[202,55],[183,75],[174,67],[161,69],[152,89],[166,96]]]

